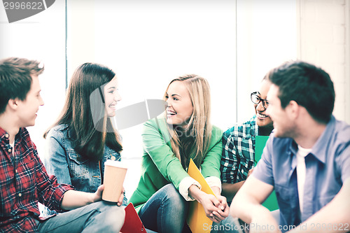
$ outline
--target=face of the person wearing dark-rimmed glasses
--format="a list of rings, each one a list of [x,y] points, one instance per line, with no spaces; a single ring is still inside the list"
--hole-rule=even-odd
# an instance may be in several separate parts
[[[260,90],[257,92],[258,97],[266,99],[270,86],[271,83],[269,83],[268,80],[263,80],[260,85]],[[254,109],[256,114],[256,125],[258,125],[258,127],[272,127],[272,119],[267,115],[262,101],[260,101],[259,104],[254,104]]]

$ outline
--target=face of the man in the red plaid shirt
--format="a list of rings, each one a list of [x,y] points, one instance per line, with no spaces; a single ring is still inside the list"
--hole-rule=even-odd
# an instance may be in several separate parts
[[[38,76],[31,76],[31,87],[25,100],[17,99],[17,114],[20,127],[33,126],[39,106],[42,106],[43,99],[40,95],[41,87]]]

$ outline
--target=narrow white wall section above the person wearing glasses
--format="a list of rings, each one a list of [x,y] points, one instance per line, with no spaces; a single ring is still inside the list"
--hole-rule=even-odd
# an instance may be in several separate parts
[[[295,0],[237,0],[237,122],[254,114],[250,93],[269,69],[297,57]]]

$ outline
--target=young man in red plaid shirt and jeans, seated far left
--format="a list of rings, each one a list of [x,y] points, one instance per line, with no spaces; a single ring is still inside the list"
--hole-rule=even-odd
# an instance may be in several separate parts
[[[125,211],[96,192],[78,192],[46,173],[25,127],[43,105],[39,63],[0,61],[0,232],[119,232]],[[59,213],[39,218],[38,202]]]

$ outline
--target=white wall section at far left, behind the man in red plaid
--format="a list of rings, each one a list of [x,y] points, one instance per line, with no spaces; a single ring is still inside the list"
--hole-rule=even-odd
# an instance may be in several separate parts
[[[43,62],[45,71],[40,78],[41,96],[45,102],[38,111],[35,127],[28,127],[31,139],[42,155],[43,132],[57,118],[64,99],[65,5],[56,1],[50,8],[25,20],[8,23],[0,4],[0,59],[25,57]]]

